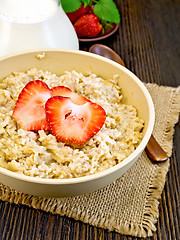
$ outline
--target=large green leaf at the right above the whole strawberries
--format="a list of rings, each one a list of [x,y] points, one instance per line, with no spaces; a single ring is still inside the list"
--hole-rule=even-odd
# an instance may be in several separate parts
[[[103,21],[120,22],[120,14],[113,0],[99,0],[94,6],[94,13]]]

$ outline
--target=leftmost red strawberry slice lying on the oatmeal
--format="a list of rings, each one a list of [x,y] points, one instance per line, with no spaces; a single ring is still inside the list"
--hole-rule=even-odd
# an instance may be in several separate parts
[[[14,119],[24,130],[49,130],[45,103],[50,97],[51,90],[46,83],[40,80],[29,82],[19,94]]]

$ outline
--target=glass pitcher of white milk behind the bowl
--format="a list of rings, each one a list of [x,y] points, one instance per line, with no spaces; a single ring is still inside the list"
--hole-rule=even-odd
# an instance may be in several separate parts
[[[58,0],[0,0],[0,57],[42,48],[79,49]]]

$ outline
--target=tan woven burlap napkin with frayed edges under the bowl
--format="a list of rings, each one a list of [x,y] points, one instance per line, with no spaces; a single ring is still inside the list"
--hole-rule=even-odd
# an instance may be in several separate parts
[[[155,105],[154,136],[171,155],[174,124],[180,112],[180,87],[146,84]],[[88,195],[45,199],[16,192],[0,185],[0,199],[47,212],[66,215],[94,226],[122,234],[147,237],[156,230],[158,204],[169,161],[152,164],[143,152],[141,157],[117,181]]]

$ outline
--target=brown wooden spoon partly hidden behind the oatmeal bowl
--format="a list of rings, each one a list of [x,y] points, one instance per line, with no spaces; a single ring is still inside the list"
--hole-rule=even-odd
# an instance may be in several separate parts
[[[121,57],[106,45],[94,44],[90,47],[89,52],[109,58],[125,67],[124,61],[121,59]],[[153,135],[151,135],[149,142],[146,145],[145,151],[152,162],[163,162],[168,159],[168,155],[161,148]]]

